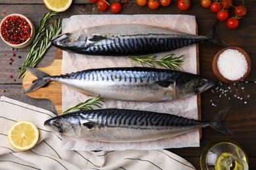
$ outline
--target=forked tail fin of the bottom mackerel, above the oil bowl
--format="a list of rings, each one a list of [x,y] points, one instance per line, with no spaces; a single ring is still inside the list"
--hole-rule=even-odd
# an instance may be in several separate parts
[[[226,113],[228,112],[228,110],[230,109],[231,106],[226,107],[225,109],[221,110],[221,112],[219,112],[215,118],[213,118],[213,120],[211,120],[211,124],[210,126],[213,129],[216,129],[217,131],[221,131],[221,133],[224,133],[226,135],[232,135],[234,134],[232,131],[230,131],[230,129],[228,129],[228,127],[224,126],[224,124],[221,123],[221,121],[224,119],[224,117],[226,116]]]

